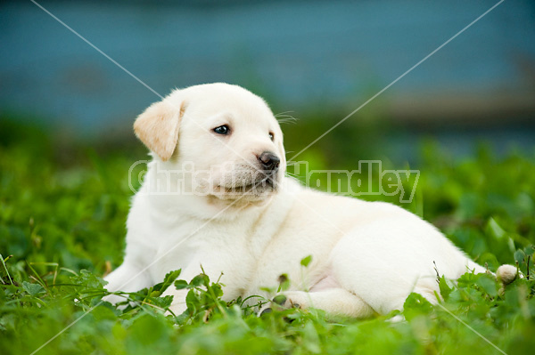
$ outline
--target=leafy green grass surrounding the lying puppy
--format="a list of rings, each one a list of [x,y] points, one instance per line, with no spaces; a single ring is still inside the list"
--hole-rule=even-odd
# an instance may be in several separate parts
[[[457,286],[442,280],[441,306],[411,294],[407,320],[398,323],[387,320],[393,314],[354,320],[314,310],[258,318],[242,300],[221,302],[216,280],[205,277],[177,283],[191,288],[189,310],[166,317],[169,299],[159,295],[175,286],[177,274],[132,294],[137,307],[100,303],[106,263],[114,268],[122,258],[128,168],[144,157],[141,143],[52,144],[31,127],[0,125],[2,354],[29,354],[77,319],[37,353],[499,353],[473,330],[506,353],[535,349],[535,282],[525,278],[505,294],[485,275],[466,274]],[[337,154],[333,162],[319,146],[306,157],[314,168],[355,168],[357,160]],[[440,226],[490,270],[518,262],[527,274],[535,243],[533,151],[498,158],[480,149],[457,161],[428,143],[418,168],[416,198],[405,208]],[[371,198],[399,204],[396,197]]]

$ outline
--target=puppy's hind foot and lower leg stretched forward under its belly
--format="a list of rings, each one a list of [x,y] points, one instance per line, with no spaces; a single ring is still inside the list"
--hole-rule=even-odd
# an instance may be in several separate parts
[[[276,296],[274,302],[282,303],[280,305],[284,308],[316,308],[328,314],[352,318],[367,318],[375,313],[360,297],[343,288],[317,292],[286,291]]]

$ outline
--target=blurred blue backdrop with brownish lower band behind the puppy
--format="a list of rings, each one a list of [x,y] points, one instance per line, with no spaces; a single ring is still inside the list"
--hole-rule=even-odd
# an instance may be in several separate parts
[[[325,128],[496,3],[39,1],[161,95],[234,83]],[[0,6],[3,113],[80,138],[131,136],[160,100],[35,4]],[[423,133],[459,154],[479,139],[532,149],[535,2],[500,4],[350,120],[388,121],[385,149],[404,157]]]

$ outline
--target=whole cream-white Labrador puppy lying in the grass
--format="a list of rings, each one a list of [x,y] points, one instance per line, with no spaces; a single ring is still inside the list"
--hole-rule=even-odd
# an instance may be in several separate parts
[[[170,270],[202,272],[224,300],[269,297],[286,274],[284,307],[356,318],[401,310],[407,295],[437,303],[436,271],[456,279],[485,272],[415,214],[387,203],[336,197],[284,176],[283,133],[259,96],[227,84],[196,85],[136,119],[152,162],[128,214],[124,262],[109,291],[152,286]],[[300,261],[312,255],[306,270]],[[516,276],[503,265],[505,283]],[[169,287],[171,311],[185,290]],[[111,295],[108,301],[117,302]]]

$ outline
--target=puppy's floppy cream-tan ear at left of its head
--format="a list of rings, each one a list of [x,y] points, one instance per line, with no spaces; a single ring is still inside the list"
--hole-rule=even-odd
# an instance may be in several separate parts
[[[184,111],[184,102],[180,107],[168,101],[153,103],[136,118],[134,132],[161,160],[169,160],[177,148],[178,127]]]

